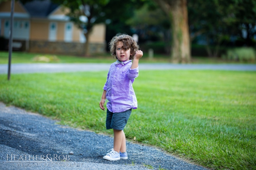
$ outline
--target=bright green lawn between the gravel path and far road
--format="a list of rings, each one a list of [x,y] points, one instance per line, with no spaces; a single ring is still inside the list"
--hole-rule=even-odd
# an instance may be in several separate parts
[[[99,107],[107,72],[0,75],[0,100],[112,134]],[[214,169],[256,169],[256,72],[140,71],[126,137]]]

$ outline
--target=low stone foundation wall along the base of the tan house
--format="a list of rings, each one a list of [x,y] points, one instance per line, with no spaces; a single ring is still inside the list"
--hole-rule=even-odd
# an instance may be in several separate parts
[[[90,43],[91,53],[103,53],[106,43]],[[84,55],[84,43],[79,42],[49,42],[29,41],[29,52],[65,55]]]

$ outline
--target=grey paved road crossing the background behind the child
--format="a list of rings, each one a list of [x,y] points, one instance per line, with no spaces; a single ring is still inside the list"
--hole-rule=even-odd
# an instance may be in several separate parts
[[[11,73],[74,72],[108,70],[111,63],[36,63],[12,64]],[[140,70],[242,70],[256,71],[256,64],[171,64],[140,63]],[[0,64],[0,74],[6,74],[7,64]]]

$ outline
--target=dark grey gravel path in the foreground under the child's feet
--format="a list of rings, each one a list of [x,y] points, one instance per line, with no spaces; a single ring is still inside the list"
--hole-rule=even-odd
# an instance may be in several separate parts
[[[102,159],[111,149],[113,137],[94,132],[74,129],[57,124],[42,115],[29,113],[23,109],[0,102],[0,169],[164,169],[206,170],[201,166],[189,164],[164,152],[139,144],[127,142],[129,159],[108,161]],[[69,154],[73,152],[74,154]],[[7,161],[8,154],[8,161]],[[12,155],[11,155],[12,154]],[[16,155],[15,161],[14,154]],[[34,155],[57,159],[67,156],[66,162],[28,162]],[[23,155],[21,158],[20,156]],[[25,161],[26,155],[26,161]],[[63,158],[60,157],[60,159]],[[10,162],[12,159],[13,162]],[[17,162],[20,159],[20,162]],[[46,159],[49,161],[49,159]],[[55,160],[56,161],[56,160]],[[20,165],[20,166],[18,166]],[[22,166],[23,165],[23,166]],[[26,166],[27,165],[27,166]],[[41,166],[40,166],[41,165]],[[147,167],[145,165],[148,165]],[[25,167],[26,166],[26,167]]]

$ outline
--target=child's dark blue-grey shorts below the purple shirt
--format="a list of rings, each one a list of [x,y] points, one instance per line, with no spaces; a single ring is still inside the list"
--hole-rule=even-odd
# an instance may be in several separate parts
[[[124,130],[131,113],[132,108],[119,113],[112,113],[107,109],[106,129]]]

